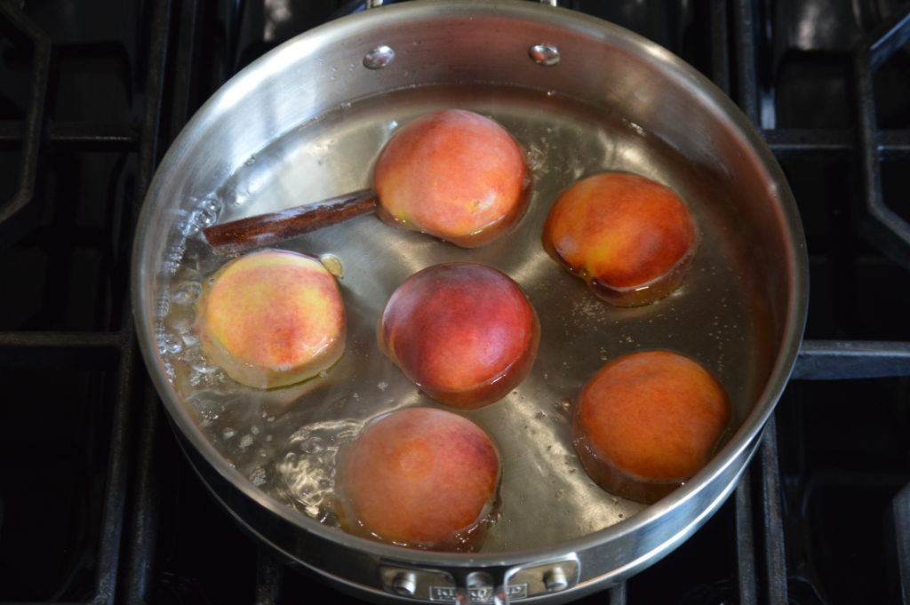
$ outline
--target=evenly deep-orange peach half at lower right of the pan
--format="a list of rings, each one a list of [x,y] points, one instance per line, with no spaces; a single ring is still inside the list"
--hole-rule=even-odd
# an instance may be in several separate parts
[[[651,503],[708,462],[730,421],[730,399],[700,363],[666,350],[613,359],[581,389],[574,443],[591,479]]]

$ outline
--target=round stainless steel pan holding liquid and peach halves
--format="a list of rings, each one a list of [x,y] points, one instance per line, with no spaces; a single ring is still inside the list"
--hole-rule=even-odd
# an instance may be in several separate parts
[[[325,376],[272,391],[207,365],[193,301],[221,263],[199,237],[214,222],[369,185],[379,148],[414,116],[457,106],[492,116],[525,147],[531,209],[465,250],[364,216],[286,247],[340,260],[348,350]],[[676,189],[703,240],[683,287],[611,308],[543,252],[562,188],[628,170]],[[379,309],[411,273],[448,260],[499,267],[541,318],[539,358],[519,388],[465,412],[503,459],[501,516],[483,550],[405,550],[334,527],[334,454],[369,418],[433,405],[375,344]],[[753,454],[793,368],[806,258],[794,201],[748,120],[661,47],[585,15],[528,2],[411,2],[370,9],[278,47],[231,79],[157,171],[136,234],[141,348],[187,456],[259,539],[363,598],[558,602],[659,560],[717,509]],[[672,348],[712,368],[733,398],[713,461],[669,497],[612,497],[573,454],[569,414],[608,358]],[[451,489],[458,489],[452,486]]]

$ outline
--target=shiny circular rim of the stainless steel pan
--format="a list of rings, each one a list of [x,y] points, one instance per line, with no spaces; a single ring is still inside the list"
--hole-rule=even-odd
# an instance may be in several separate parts
[[[162,371],[161,359],[157,357],[157,346],[154,341],[155,329],[151,321],[152,314],[146,310],[153,304],[152,300],[154,297],[150,296],[153,293],[147,291],[148,280],[145,279],[145,272],[141,267],[149,266],[148,255],[150,255],[151,247],[146,246],[145,240],[147,239],[148,226],[154,222],[153,215],[156,208],[153,205],[157,197],[156,192],[162,187],[161,181],[166,177],[167,169],[176,161],[177,156],[180,156],[182,147],[187,144],[184,134],[181,134],[158,166],[156,176],[148,188],[134,240],[131,287],[140,350],[145,358],[147,368],[150,370],[149,373],[157,392],[162,396],[161,398],[165,403],[168,416],[182,433],[182,437],[195,447],[211,469],[217,471],[234,488],[239,489],[243,495],[256,501],[262,508],[278,515],[279,518],[290,525],[305,529],[310,533],[314,533],[320,539],[329,540],[342,547],[368,551],[381,559],[405,560],[414,564],[432,564],[436,566],[443,562],[445,565],[455,568],[505,564],[520,565],[535,560],[552,558],[561,553],[588,550],[604,542],[638,531],[652,524],[654,519],[663,518],[672,510],[680,509],[686,502],[696,498],[700,492],[707,489],[712,479],[723,475],[724,472],[729,470],[731,465],[738,463],[743,456],[749,457],[752,455],[758,437],[760,437],[763,427],[772,414],[777,399],[780,398],[784,391],[794,367],[799,343],[803,337],[808,308],[808,260],[805,253],[802,223],[796,209],[794,197],[786,185],[782,169],[778,166],[773,154],[748,118],[710,80],[666,49],[618,25],[609,24],[587,15],[580,15],[570,9],[534,5],[521,0],[501,0],[495,3],[476,2],[474,0],[417,0],[405,4],[383,6],[379,9],[370,9],[369,19],[371,26],[379,25],[383,23],[383,20],[391,22],[393,19],[426,18],[426,15],[432,15],[433,18],[447,15],[470,15],[472,17],[498,16],[539,20],[551,15],[549,11],[552,10],[559,11],[558,15],[563,27],[570,27],[583,34],[596,35],[600,38],[604,38],[609,33],[607,36],[609,38],[607,40],[608,43],[622,45],[627,50],[645,56],[648,61],[658,63],[662,66],[662,71],[669,73],[673,77],[693,82],[702,91],[701,100],[715,107],[717,109],[716,113],[728,121],[727,126],[733,128],[737,136],[743,137],[753,149],[762,170],[768,176],[768,180],[775,184],[776,191],[774,193],[778,200],[779,219],[784,227],[785,239],[791,244],[791,247],[786,250],[786,255],[789,257],[790,266],[793,267],[793,273],[790,276],[789,283],[788,313],[781,328],[783,346],[775,358],[763,392],[757,398],[753,408],[747,417],[743,419],[743,423],[735,431],[733,437],[692,481],[631,518],[624,519],[620,523],[592,532],[581,538],[530,550],[440,553],[410,550],[391,544],[379,543],[351,536],[339,529],[324,526],[317,520],[311,519],[297,510],[290,509],[278,502],[278,500],[268,496],[268,494],[253,486],[246,477],[241,475],[238,469],[230,468],[226,460],[217,453],[217,450],[208,439],[201,434],[195,423],[177,405],[177,393]],[[219,111],[223,104],[230,102],[232,95],[238,94],[242,88],[251,86],[252,82],[249,78],[253,78],[252,74],[258,73],[257,77],[260,77],[273,70],[280,69],[282,62],[286,60],[286,54],[294,55],[297,53],[298,47],[306,45],[318,47],[321,36],[344,37],[346,32],[348,35],[356,34],[359,32],[361,21],[366,21],[364,15],[342,17],[329,24],[320,25],[309,32],[298,35],[284,45],[280,45],[270,51],[267,55],[260,57],[238,75],[231,78],[209,98],[206,104],[198,110],[197,115],[193,116],[187,123],[184,133],[191,129],[193,125],[203,121],[208,114]],[[745,464],[743,464],[744,467]],[[742,469],[739,472],[742,472]],[[725,498],[726,495],[723,496],[723,499]]]

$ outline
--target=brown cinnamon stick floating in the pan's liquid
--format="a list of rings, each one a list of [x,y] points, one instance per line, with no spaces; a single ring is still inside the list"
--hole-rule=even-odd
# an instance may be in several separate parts
[[[376,192],[361,189],[312,204],[206,227],[202,236],[216,254],[238,254],[367,214],[376,209],[377,200]]]

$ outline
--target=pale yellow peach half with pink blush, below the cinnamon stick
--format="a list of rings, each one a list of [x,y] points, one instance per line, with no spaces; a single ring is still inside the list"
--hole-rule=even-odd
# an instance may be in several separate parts
[[[319,260],[264,250],[218,269],[197,302],[202,350],[227,376],[257,388],[312,378],[345,348],[345,310]]]

